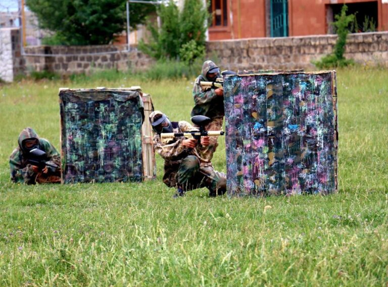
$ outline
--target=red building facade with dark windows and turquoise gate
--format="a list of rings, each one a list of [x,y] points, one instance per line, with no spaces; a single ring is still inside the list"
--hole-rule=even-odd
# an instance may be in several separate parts
[[[332,34],[344,3],[352,32],[388,30],[388,0],[210,0],[209,40]]]

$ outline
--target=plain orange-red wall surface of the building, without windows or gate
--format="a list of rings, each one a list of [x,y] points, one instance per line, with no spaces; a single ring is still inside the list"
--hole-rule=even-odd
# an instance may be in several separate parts
[[[388,4],[377,1],[378,31],[387,31]],[[326,34],[326,5],[359,2],[376,0],[288,0],[289,36]],[[210,40],[266,36],[266,0],[229,0],[228,11],[228,26],[210,27]]]

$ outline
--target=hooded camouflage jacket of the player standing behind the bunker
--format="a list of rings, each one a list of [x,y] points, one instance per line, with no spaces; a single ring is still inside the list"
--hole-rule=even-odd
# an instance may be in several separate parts
[[[191,116],[203,115],[211,119],[220,118],[225,115],[224,97],[216,95],[214,88],[203,89],[201,81],[209,81],[206,77],[208,71],[217,67],[212,61],[206,61],[202,66],[202,74],[199,75],[192,89],[195,106],[191,110]]]

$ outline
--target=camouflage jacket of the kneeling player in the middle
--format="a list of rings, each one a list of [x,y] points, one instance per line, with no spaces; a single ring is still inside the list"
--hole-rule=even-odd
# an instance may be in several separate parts
[[[194,127],[186,121],[171,122],[173,132],[190,131]],[[169,186],[176,186],[176,174],[179,169],[182,159],[189,155],[195,155],[201,162],[201,166],[212,166],[209,160],[205,160],[199,156],[199,152],[203,148],[188,149],[182,146],[184,136],[175,137],[166,143],[163,143],[160,134],[156,133],[153,138],[155,151],[164,159],[164,176],[163,182]]]

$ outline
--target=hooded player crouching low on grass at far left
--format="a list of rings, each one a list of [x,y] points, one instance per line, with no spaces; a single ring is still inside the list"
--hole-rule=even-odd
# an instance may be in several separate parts
[[[11,180],[15,183],[61,182],[61,159],[53,145],[27,127],[10,157]]]

